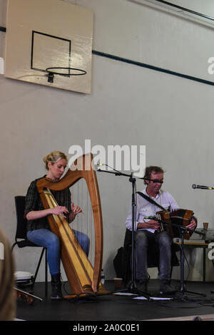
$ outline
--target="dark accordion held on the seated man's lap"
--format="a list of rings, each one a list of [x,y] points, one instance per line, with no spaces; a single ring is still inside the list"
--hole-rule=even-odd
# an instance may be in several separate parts
[[[182,208],[172,210],[160,210],[156,212],[158,219],[167,222],[167,225],[161,224],[161,230],[167,230],[170,234],[170,237],[180,237],[180,226],[186,227],[190,224],[190,221],[193,218],[192,210],[183,210]],[[193,234],[193,230],[191,232],[186,232],[184,238],[190,239],[191,234]]]

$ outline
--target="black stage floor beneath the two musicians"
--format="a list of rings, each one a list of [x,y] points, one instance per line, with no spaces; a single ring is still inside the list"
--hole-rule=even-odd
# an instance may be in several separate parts
[[[179,282],[173,280],[172,287],[179,288]],[[108,291],[114,290],[112,281],[106,281]],[[64,288],[68,290],[68,283]],[[27,287],[22,288],[27,290]],[[159,281],[151,279],[148,290],[152,297],[160,297],[158,294]],[[178,289],[173,299],[148,301],[133,299],[133,296],[118,296],[114,294],[99,297],[84,297],[70,301],[51,301],[51,287],[49,294],[44,299],[44,283],[36,283],[34,294],[44,299],[34,300],[33,304],[27,303],[22,298],[17,298],[16,319],[25,321],[151,321],[151,320],[193,320],[199,316],[203,321],[214,319],[214,289],[213,282],[188,282],[185,289],[190,292],[202,293],[183,294]]]

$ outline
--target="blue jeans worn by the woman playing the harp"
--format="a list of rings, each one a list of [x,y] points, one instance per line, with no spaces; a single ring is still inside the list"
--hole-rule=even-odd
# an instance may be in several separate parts
[[[89,253],[90,239],[83,232],[73,230],[79,244],[86,252]],[[61,261],[61,242],[58,236],[47,229],[31,230],[27,233],[29,241],[47,248],[47,259],[49,263],[49,270],[51,274],[58,274],[60,272]]]

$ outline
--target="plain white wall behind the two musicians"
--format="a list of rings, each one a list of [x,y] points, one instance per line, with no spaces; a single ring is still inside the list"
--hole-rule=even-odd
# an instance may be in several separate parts
[[[69,1],[67,1],[69,2]],[[168,68],[213,81],[213,29],[126,0],[76,0],[94,11],[93,50]],[[0,1],[0,25],[6,24]],[[2,10],[2,11],[1,11]],[[4,13],[4,15],[2,15]],[[5,33],[0,32],[0,56]],[[82,95],[13,81],[0,75],[1,212],[11,243],[16,215],[14,195],[44,173],[42,158],[53,149],[68,153],[72,144],[146,145],[146,164],[165,169],[163,188],[180,207],[193,209],[214,226],[213,86],[93,55],[93,91]],[[131,184],[125,177],[98,173],[104,230],[103,268],[115,277],[113,257],[123,244]],[[143,182],[138,181],[138,190]],[[16,267],[34,272],[38,252],[14,250]],[[35,255],[35,256],[34,256]],[[199,259],[200,261],[200,259]],[[197,265],[198,266],[198,265]],[[201,267],[202,272],[202,267]],[[39,280],[44,280],[41,271]]]

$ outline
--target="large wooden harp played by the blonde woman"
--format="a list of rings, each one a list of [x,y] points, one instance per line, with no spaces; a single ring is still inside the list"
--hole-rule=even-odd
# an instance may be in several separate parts
[[[71,292],[75,295],[104,291],[100,282],[103,258],[103,222],[96,171],[93,168],[93,155],[88,153],[77,158],[61,180],[53,182],[44,177],[36,184],[44,208],[47,209],[58,205],[51,191],[65,190],[81,178],[86,181],[93,211],[95,235],[93,265],[83,252],[66,219],[59,215],[48,216],[51,231],[61,240],[61,261]]]

